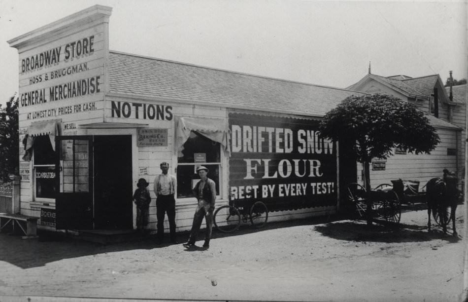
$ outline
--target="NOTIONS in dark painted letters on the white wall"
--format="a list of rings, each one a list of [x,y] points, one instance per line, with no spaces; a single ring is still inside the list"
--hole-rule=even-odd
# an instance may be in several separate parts
[[[111,116],[136,119],[172,120],[172,106],[111,102]]]

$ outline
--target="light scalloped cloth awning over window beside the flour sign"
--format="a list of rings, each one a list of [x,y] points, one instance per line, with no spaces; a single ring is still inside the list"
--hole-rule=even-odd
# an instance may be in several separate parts
[[[176,127],[175,151],[181,152],[191,131],[196,131],[210,140],[220,143],[225,152],[231,154],[229,148],[229,127],[227,120],[221,118],[179,117]]]

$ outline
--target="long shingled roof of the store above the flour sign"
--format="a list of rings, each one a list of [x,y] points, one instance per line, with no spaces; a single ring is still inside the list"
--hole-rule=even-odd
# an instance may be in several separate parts
[[[109,83],[110,93],[306,116],[365,94],[116,51],[109,52]]]

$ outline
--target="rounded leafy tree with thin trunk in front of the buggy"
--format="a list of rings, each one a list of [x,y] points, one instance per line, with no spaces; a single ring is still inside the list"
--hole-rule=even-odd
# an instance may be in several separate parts
[[[356,142],[352,148],[363,164],[367,191],[372,158],[388,158],[397,146],[415,154],[430,153],[440,142],[423,112],[411,103],[384,94],[346,98],[325,114],[319,131],[324,138],[336,141],[341,137]],[[370,200],[368,209],[369,205]]]

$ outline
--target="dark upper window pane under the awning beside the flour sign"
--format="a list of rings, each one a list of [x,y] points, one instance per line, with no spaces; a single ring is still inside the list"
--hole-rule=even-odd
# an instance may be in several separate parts
[[[220,144],[213,142],[212,140],[197,134],[196,132],[190,132],[190,137],[184,144],[184,150],[182,150],[182,157],[178,158],[178,162],[195,162],[194,153],[204,153],[206,156],[206,162],[220,162],[221,152]]]

